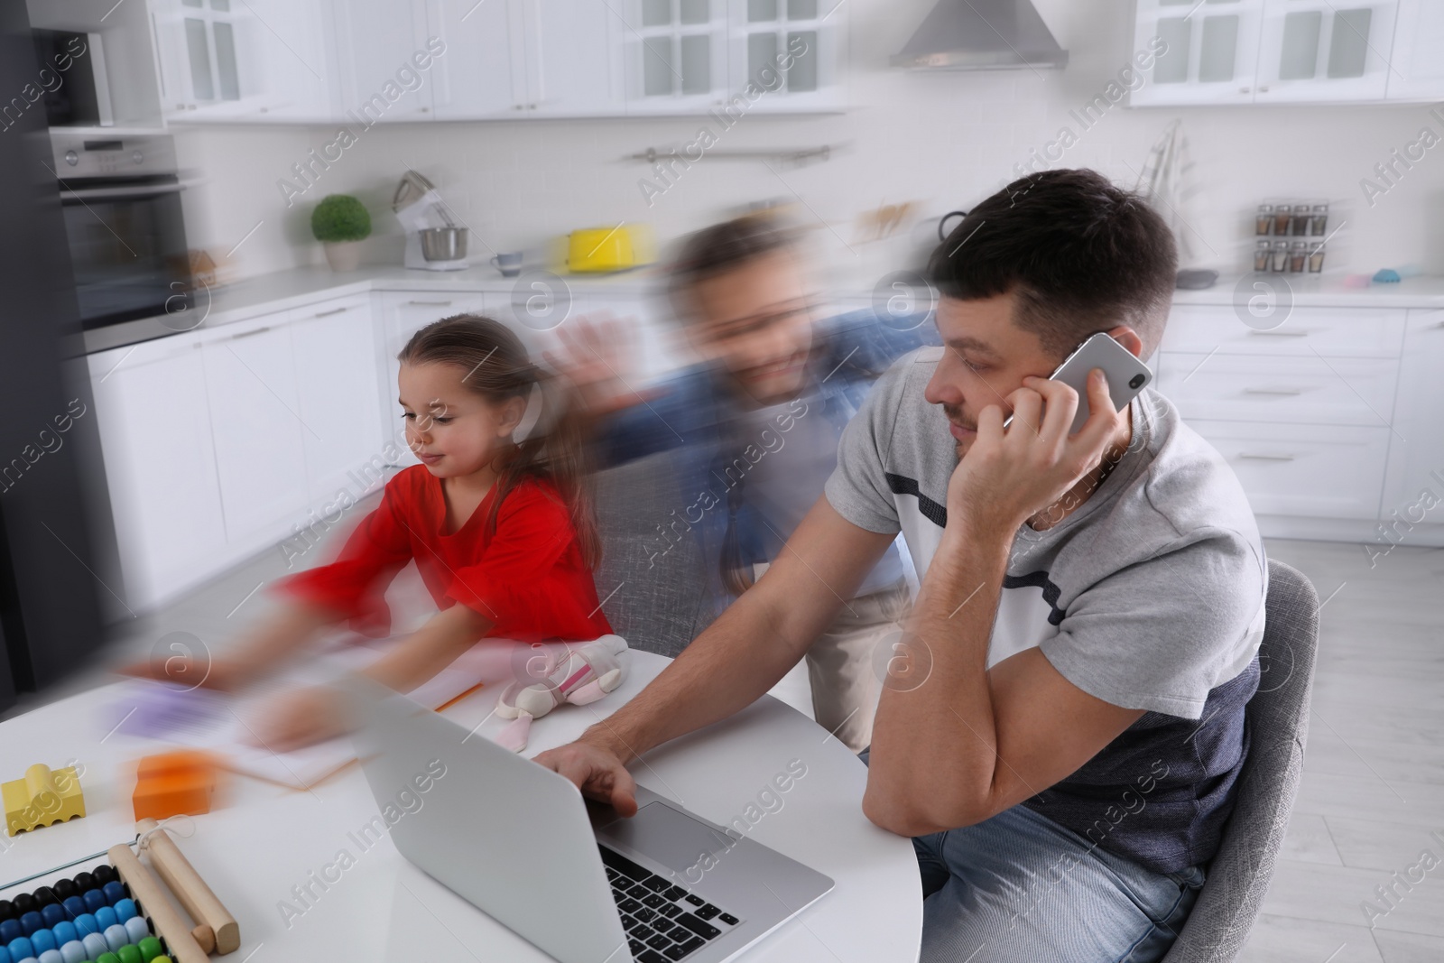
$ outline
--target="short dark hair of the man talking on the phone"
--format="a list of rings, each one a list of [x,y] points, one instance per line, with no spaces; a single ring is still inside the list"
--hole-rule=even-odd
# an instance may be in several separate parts
[[[1178,254],[1173,231],[1136,193],[1096,170],[1014,180],[953,228],[927,264],[944,297],[1012,292],[1014,323],[1061,361],[1089,335],[1128,325],[1158,347]]]

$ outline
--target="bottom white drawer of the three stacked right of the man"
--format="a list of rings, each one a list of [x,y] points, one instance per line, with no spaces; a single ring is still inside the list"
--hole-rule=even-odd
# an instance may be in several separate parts
[[[1190,420],[1239,476],[1259,515],[1379,517],[1386,427]]]

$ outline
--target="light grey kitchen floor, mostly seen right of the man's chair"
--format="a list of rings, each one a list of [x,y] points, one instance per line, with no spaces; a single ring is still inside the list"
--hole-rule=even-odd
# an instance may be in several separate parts
[[[1268,552],[1302,570],[1324,605],[1304,783],[1242,960],[1444,960],[1444,550],[1402,546],[1373,569],[1357,544],[1269,540]],[[253,589],[284,570],[279,552],[266,553],[137,619],[107,664],[146,655],[172,631],[224,645],[269,605]],[[423,616],[417,589],[388,596],[399,624]],[[105,680],[77,676],[19,710]],[[774,693],[810,715],[800,668]],[[1396,895],[1383,904],[1376,886]]]

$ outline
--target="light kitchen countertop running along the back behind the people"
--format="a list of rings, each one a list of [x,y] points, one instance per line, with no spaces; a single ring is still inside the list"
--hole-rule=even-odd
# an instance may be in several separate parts
[[[661,267],[622,271],[606,276],[566,274],[562,280],[576,293],[591,296],[648,297],[657,295],[666,282]],[[289,271],[250,277],[215,290],[209,305],[202,293],[193,310],[204,310],[208,326],[227,325],[292,308],[303,308],[332,297],[384,292],[494,292],[510,293],[526,279],[501,277],[490,266],[462,271],[422,271],[400,266],[367,266],[355,271],[338,273],[328,267],[297,267]],[[1346,287],[1339,276],[1291,274],[1223,274],[1213,287],[1204,290],[1175,290],[1175,305],[1232,305],[1265,293],[1255,283],[1268,283],[1275,292],[1288,292],[1301,308],[1444,308],[1444,277],[1408,277],[1395,284]],[[866,302],[871,290],[853,290],[843,282],[832,292],[839,300]],[[87,331],[84,354],[123,348],[127,345],[178,334],[179,325],[162,318],[127,321],[108,328]]]

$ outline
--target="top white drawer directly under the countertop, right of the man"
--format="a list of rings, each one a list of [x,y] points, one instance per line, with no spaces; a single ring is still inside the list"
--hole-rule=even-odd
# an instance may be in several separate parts
[[[1162,351],[1209,354],[1398,358],[1405,312],[1398,308],[1294,308],[1278,328],[1258,331],[1229,305],[1177,305]]]

